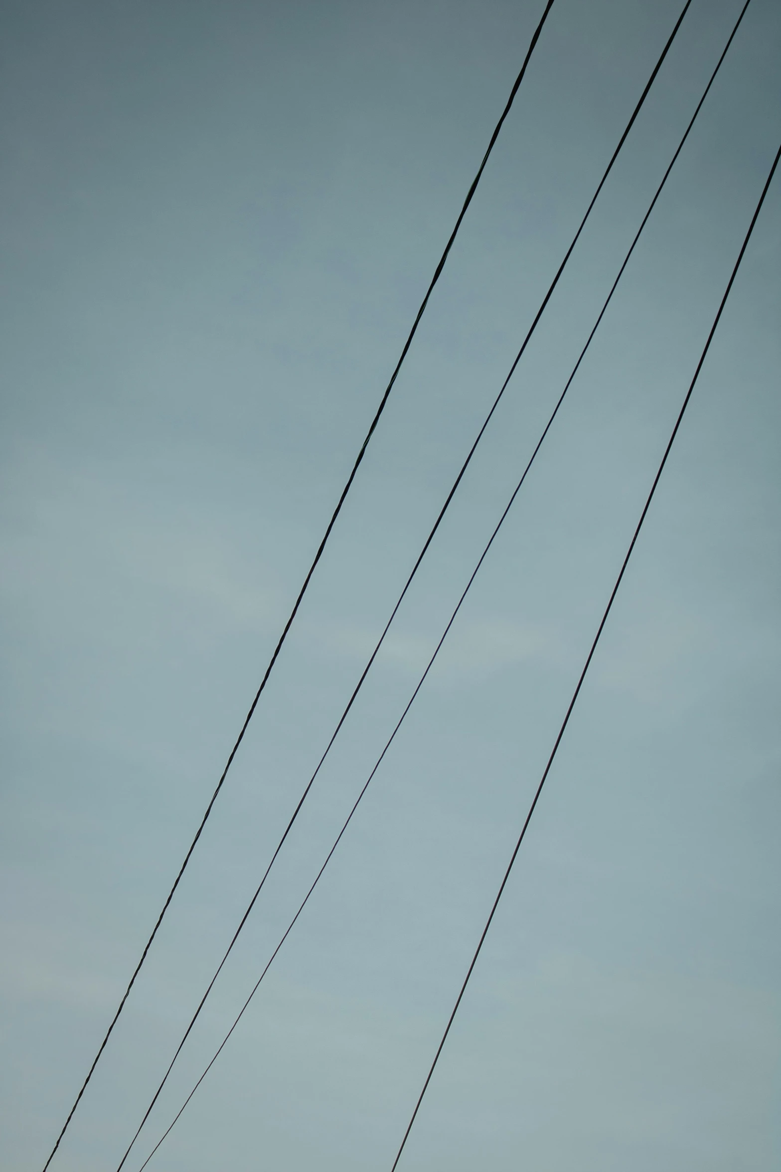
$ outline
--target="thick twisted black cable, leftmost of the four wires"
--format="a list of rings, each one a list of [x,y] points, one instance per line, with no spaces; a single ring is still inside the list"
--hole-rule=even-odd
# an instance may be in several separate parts
[[[547,0],[544,11],[542,13],[542,16],[540,18],[537,27],[534,30],[534,35],[532,36],[532,41],[529,43],[529,48],[527,50],[526,57],[523,59],[523,64],[521,66],[521,70],[520,70],[520,73],[518,75],[518,77],[515,79],[515,83],[514,83],[514,86],[513,86],[513,88],[511,90],[509,97],[507,100],[507,104],[505,105],[502,115],[499,118],[499,122],[496,123],[496,125],[494,128],[494,131],[493,131],[493,134],[491,136],[491,142],[488,143],[488,149],[486,150],[485,155],[482,156],[482,162],[480,163],[480,166],[478,168],[478,173],[475,175],[474,179],[472,180],[472,185],[470,186],[470,190],[467,192],[466,199],[464,200],[464,206],[461,207],[461,211],[459,212],[458,219],[455,220],[455,226],[453,227],[453,231],[450,234],[450,239],[447,240],[447,244],[445,245],[445,251],[443,252],[443,254],[441,254],[441,257],[439,259],[439,264],[437,265],[437,268],[434,270],[434,275],[432,277],[431,284],[429,285],[429,288],[426,289],[426,295],[424,297],[423,301],[420,302],[420,308],[417,312],[416,319],[415,319],[415,321],[412,323],[412,328],[411,328],[411,331],[409,333],[406,342],[404,343],[404,348],[402,349],[402,354],[399,356],[399,360],[396,363],[396,368],[393,369],[393,373],[391,375],[390,382],[388,383],[388,387],[385,388],[385,393],[383,394],[383,397],[379,401],[379,407],[377,408],[375,417],[371,421],[371,427],[369,428],[369,430],[366,432],[366,436],[365,436],[363,443],[361,444],[361,449],[358,451],[357,458],[355,461],[355,464],[352,465],[352,471],[350,472],[350,475],[348,477],[348,481],[347,481],[347,484],[344,485],[344,488],[342,490],[342,495],[340,496],[338,503],[336,505],[336,509],[334,510],[331,519],[328,523],[328,527],[326,529],[326,533],[323,534],[323,539],[321,540],[321,543],[320,543],[320,545],[317,547],[317,552],[316,552],[316,554],[314,557],[314,560],[313,560],[313,563],[311,563],[311,565],[309,567],[309,571],[307,572],[307,577],[303,580],[303,585],[302,585],[301,590],[299,591],[299,597],[295,600],[295,605],[294,605],[293,609],[290,611],[289,618],[288,618],[287,622],[285,624],[285,628],[282,631],[282,634],[280,635],[279,642],[276,643],[276,647],[274,648],[274,654],[272,655],[272,657],[270,657],[270,660],[268,662],[268,667],[266,668],[266,673],[265,673],[265,675],[263,675],[263,677],[261,680],[260,687],[258,688],[258,691],[255,693],[255,699],[253,700],[253,702],[252,702],[252,704],[249,707],[249,711],[247,713],[245,722],[241,725],[241,731],[239,732],[239,736],[237,737],[235,744],[233,745],[233,749],[231,750],[231,755],[229,755],[229,757],[227,759],[225,769],[222,770],[222,775],[221,775],[221,777],[220,777],[220,779],[219,779],[219,782],[217,784],[217,789],[214,790],[214,792],[213,792],[213,795],[211,797],[211,800],[210,800],[208,805],[206,806],[206,812],[204,813],[204,817],[201,818],[200,825],[199,825],[199,827],[198,827],[198,830],[196,832],[196,837],[193,838],[193,840],[192,840],[192,843],[190,845],[190,849],[189,849],[189,851],[187,851],[187,853],[186,853],[186,856],[184,858],[184,863],[179,867],[179,873],[177,874],[177,877],[176,877],[176,879],[173,881],[173,886],[171,887],[171,891],[169,892],[169,895],[167,895],[167,898],[165,900],[165,904],[163,905],[163,909],[162,909],[160,914],[157,918],[157,922],[156,922],[156,925],[155,925],[155,927],[152,929],[152,934],[150,935],[149,940],[146,941],[144,950],[143,950],[143,953],[141,955],[141,960],[138,961],[138,965],[136,966],[136,968],[133,970],[133,974],[130,977],[130,982],[128,984],[128,988],[125,989],[124,995],[122,997],[122,1001],[119,1002],[119,1006],[117,1008],[117,1011],[115,1013],[114,1018],[111,1020],[111,1024],[109,1026],[109,1028],[108,1028],[108,1030],[105,1033],[105,1037],[101,1042],[101,1045],[100,1045],[100,1049],[98,1049],[98,1051],[97,1051],[97,1054],[95,1056],[95,1059],[93,1061],[93,1064],[89,1068],[89,1071],[87,1074],[87,1078],[84,1079],[84,1082],[82,1084],[82,1088],[78,1091],[78,1095],[76,1096],[76,1099],[74,1102],[74,1105],[70,1109],[70,1112],[68,1113],[68,1118],[64,1122],[62,1131],[57,1136],[57,1140],[56,1140],[54,1147],[52,1149],[52,1152],[49,1153],[49,1158],[47,1159],[46,1164],[43,1165],[43,1172],[47,1172],[47,1168],[48,1168],[49,1164],[52,1163],[52,1159],[53,1159],[53,1157],[54,1157],[57,1147],[60,1146],[60,1142],[62,1140],[62,1137],[64,1136],[66,1131],[68,1130],[68,1125],[70,1124],[70,1120],[74,1117],[74,1112],[76,1111],[76,1108],[78,1106],[78,1103],[80,1103],[80,1101],[82,1098],[82,1095],[87,1090],[87,1085],[88,1085],[90,1078],[93,1077],[93,1072],[94,1072],[94,1070],[95,1070],[95,1068],[96,1068],[96,1065],[97,1065],[97,1063],[98,1063],[98,1061],[101,1058],[101,1055],[103,1054],[103,1050],[105,1049],[107,1042],[109,1041],[109,1037],[111,1036],[111,1033],[114,1030],[114,1027],[117,1023],[119,1014],[124,1009],[125,1001],[128,1000],[128,997],[130,995],[130,990],[132,989],[132,987],[133,987],[133,984],[136,982],[136,977],[141,973],[142,966],[143,966],[144,961],[146,960],[146,954],[149,953],[149,949],[150,949],[150,947],[152,945],[152,941],[155,940],[155,936],[157,935],[157,931],[158,931],[160,924],[163,922],[163,918],[164,918],[165,913],[169,909],[169,905],[170,905],[171,900],[173,899],[173,893],[176,892],[177,887],[179,886],[179,880],[181,879],[181,877],[183,877],[183,874],[185,872],[185,868],[186,868],[187,864],[190,863],[190,857],[192,856],[192,852],[196,849],[196,845],[198,843],[198,839],[201,836],[204,826],[206,825],[208,816],[212,812],[212,806],[214,805],[214,802],[217,800],[217,796],[218,796],[218,793],[220,792],[220,790],[222,788],[222,783],[225,782],[227,772],[228,772],[228,770],[229,770],[229,768],[231,768],[231,765],[233,763],[233,758],[235,757],[237,751],[239,749],[239,745],[241,744],[241,742],[244,740],[244,735],[247,731],[247,727],[249,724],[249,721],[252,720],[252,717],[254,715],[254,711],[255,711],[255,708],[258,707],[258,701],[260,700],[261,693],[263,691],[263,689],[266,687],[266,683],[268,681],[268,677],[272,674],[272,670],[274,668],[276,659],[278,659],[278,656],[279,656],[279,654],[280,654],[280,652],[282,649],[282,645],[285,643],[285,640],[287,639],[288,631],[290,629],[290,627],[293,625],[293,620],[295,619],[295,616],[296,616],[296,614],[299,612],[299,607],[301,606],[301,601],[303,599],[303,595],[307,592],[307,588],[309,586],[309,581],[311,579],[311,575],[314,574],[315,568],[317,566],[317,563],[320,561],[320,559],[321,559],[321,557],[323,554],[323,550],[326,548],[326,544],[327,544],[327,541],[328,541],[328,539],[329,539],[329,537],[331,534],[331,530],[334,529],[334,525],[336,524],[336,518],[338,517],[340,512],[342,511],[342,505],[344,504],[347,495],[348,495],[348,492],[350,491],[350,489],[352,486],[352,482],[354,482],[354,479],[356,477],[356,473],[358,471],[358,466],[359,466],[361,462],[363,461],[363,457],[365,455],[366,448],[369,447],[369,442],[370,442],[370,440],[371,440],[371,437],[372,437],[372,435],[375,432],[375,429],[376,429],[376,427],[377,427],[377,424],[379,422],[379,417],[381,417],[381,415],[383,414],[383,411],[385,409],[385,404],[388,403],[388,398],[390,396],[390,393],[391,393],[391,389],[393,387],[393,383],[396,382],[397,375],[398,375],[398,373],[399,373],[399,370],[402,368],[402,363],[404,362],[404,360],[405,360],[405,357],[407,355],[407,352],[410,349],[410,346],[412,345],[412,339],[415,338],[415,334],[417,332],[418,325],[420,323],[420,319],[423,318],[423,314],[425,313],[426,306],[429,305],[429,299],[430,299],[430,297],[431,297],[431,294],[433,292],[434,285],[439,280],[439,278],[441,275],[441,272],[443,272],[443,268],[445,267],[445,263],[447,260],[447,257],[450,255],[450,251],[451,251],[451,248],[453,246],[455,237],[458,236],[458,231],[459,231],[459,229],[461,226],[461,222],[463,222],[463,219],[464,219],[464,217],[466,214],[466,211],[467,211],[470,204],[472,203],[472,198],[474,196],[474,192],[477,191],[477,188],[478,188],[478,184],[480,182],[480,178],[482,177],[482,172],[485,170],[486,163],[488,162],[488,157],[489,157],[489,155],[491,155],[491,152],[492,152],[495,143],[496,143],[496,139],[499,137],[499,132],[500,132],[500,130],[502,128],[505,118],[509,114],[509,110],[511,110],[511,107],[512,107],[513,101],[515,98],[515,95],[518,94],[520,84],[521,84],[521,82],[523,80],[523,76],[526,74],[526,69],[527,69],[527,66],[528,66],[529,60],[532,57],[532,54],[533,54],[533,52],[534,52],[534,49],[536,47],[536,43],[537,43],[537,41],[540,39],[540,34],[542,33],[542,27],[543,27],[546,20],[548,19],[548,14],[549,14],[550,9],[553,8],[553,5],[554,5],[554,0]]]

